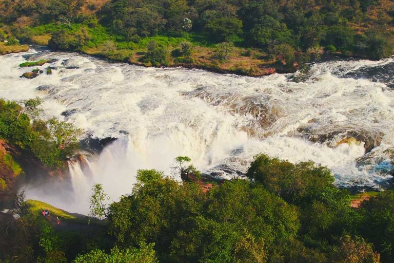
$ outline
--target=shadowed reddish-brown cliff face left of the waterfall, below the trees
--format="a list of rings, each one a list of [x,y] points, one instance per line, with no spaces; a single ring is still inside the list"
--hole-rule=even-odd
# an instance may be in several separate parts
[[[11,208],[23,183],[67,177],[68,168],[48,168],[29,151],[0,140],[0,210]]]

